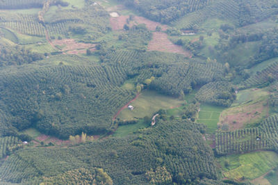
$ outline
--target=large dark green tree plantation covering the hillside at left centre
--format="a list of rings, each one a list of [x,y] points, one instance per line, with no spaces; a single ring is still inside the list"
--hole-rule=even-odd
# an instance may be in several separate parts
[[[36,125],[61,138],[84,130],[88,134],[109,131],[113,114],[135,96],[120,88],[126,72],[106,65],[22,68],[2,72],[0,79],[1,101],[9,107],[3,111],[13,115],[10,125],[19,130]]]

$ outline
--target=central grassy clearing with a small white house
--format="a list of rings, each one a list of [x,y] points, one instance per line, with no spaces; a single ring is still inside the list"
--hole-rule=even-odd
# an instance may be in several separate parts
[[[181,106],[184,102],[173,97],[158,94],[154,91],[144,91],[138,99],[131,103],[134,109],[124,109],[117,118],[121,120],[131,120],[133,118],[151,117],[159,109],[174,108]]]

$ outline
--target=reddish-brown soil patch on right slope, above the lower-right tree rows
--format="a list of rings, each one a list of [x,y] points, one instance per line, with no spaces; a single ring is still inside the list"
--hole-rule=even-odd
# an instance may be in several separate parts
[[[253,104],[238,108],[238,113],[231,113],[230,115],[220,115],[221,124],[229,124],[229,130],[242,129],[245,124],[254,122],[261,118],[263,109],[267,108],[262,104]]]

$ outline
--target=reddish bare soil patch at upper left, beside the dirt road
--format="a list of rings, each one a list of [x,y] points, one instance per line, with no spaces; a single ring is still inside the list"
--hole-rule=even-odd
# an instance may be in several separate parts
[[[95,47],[95,45],[87,44],[83,42],[75,42],[74,39],[63,39],[63,40],[54,40],[53,45],[64,46],[62,51],[75,51],[78,49],[87,49]]]

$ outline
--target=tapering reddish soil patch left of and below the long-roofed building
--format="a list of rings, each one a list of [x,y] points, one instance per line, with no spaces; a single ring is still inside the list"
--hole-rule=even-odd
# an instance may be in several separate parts
[[[165,51],[176,54],[183,54],[184,56],[191,57],[190,51],[184,51],[181,46],[174,45],[168,38],[166,33],[154,32],[152,40],[148,45],[149,51]]]

